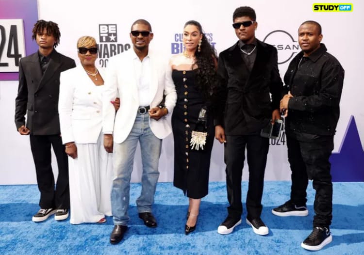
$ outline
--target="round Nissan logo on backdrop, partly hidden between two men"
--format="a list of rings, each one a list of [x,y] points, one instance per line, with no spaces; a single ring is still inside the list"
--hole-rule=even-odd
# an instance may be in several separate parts
[[[263,42],[273,45],[278,50],[278,64],[290,61],[300,51],[298,42],[293,36],[283,30],[275,30],[268,33]]]

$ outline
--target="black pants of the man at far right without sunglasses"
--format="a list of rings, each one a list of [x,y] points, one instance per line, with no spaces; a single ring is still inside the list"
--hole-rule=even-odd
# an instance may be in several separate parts
[[[332,219],[332,182],[329,158],[333,136],[303,137],[287,134],[288,161],[292,170],[291,201],[306,205],[308,179],[313,180],[314,227],[329,227]]]

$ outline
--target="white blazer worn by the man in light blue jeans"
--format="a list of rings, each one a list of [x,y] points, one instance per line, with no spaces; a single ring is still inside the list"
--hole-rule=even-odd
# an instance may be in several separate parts
[[[167,61],[161,60],[159,55],[153,55],[149,49],[152,78],[149,87],[150,107],[156,107],[165,93],[165,106],[171,114],[177,101],[177,93],[172,80],[172,70]],[[128,137],[134,124],[139,108],[139,96],[133,60],[136,54],[131,48],[110,58],[105,80],[103,96],[103,133],[113,134],[115,143],[122,143]],[[120,108],[116,112],[113,105],[107,104],[120,96]],[[148,113],[146,113],[148,114]],[[114,121],[115,120],[115,121]],[[166,116],[158,121],[149,118],[149,126],[159,139],[165,138],[172,132],[172,127]]]

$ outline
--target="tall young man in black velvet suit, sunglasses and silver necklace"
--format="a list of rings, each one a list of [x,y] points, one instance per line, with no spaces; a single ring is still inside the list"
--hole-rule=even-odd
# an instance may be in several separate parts
[[[218,227],[219,234],[230,234],[241,223],[241,178],[247,148],[249,186],[247,223],[254,233],[267,235],[261,219],[265,164],[269,141],[261,129],[280,119],[282,81],[277,49],[255,38],[255,11],[239,7],[233,14],[233,28],[239,41],[222,51],[218,60],[221,77],[216,104],[215,138],[225,146],[228,217]],[[272,95],[270,98],[269,93]]]

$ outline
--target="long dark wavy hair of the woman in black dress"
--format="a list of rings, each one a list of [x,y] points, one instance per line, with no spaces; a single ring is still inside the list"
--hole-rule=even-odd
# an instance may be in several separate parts
[[[184,24],[183,28],[188,25],[196,26],[199,29],[199,32],[202,34],[200,47],[201,50],[199,52],[196,49],[195,52],[196,64],[199,66],[196,73],[196,78],[199,92],[205,99],[209,99],[215,91],[218,81],[215,66],[215,63],[217,62],[216,51],[206,39],[199,22],[196,20],[189,20],[186,22],[186,24]]]

